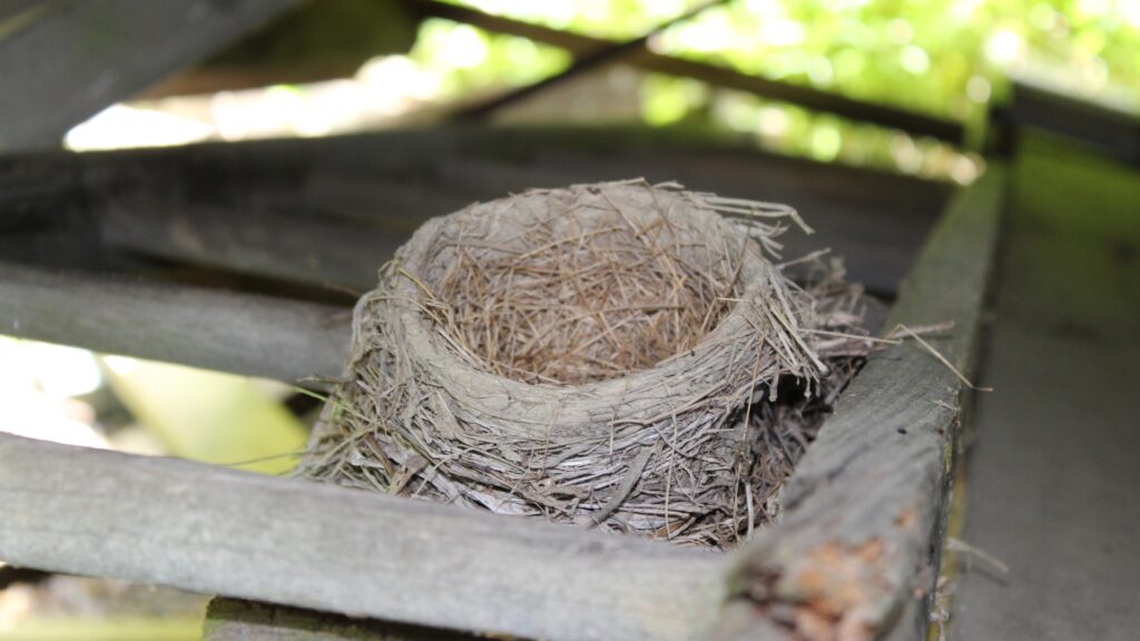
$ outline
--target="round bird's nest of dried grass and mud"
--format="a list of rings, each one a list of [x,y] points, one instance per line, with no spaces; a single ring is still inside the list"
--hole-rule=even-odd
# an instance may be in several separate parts
[[[792,224],[643,180],[429,221],[358,302],[302,472],[681,543],[747,536],[868,346],[857,289],[820,261],[801,289],[774,262]]]

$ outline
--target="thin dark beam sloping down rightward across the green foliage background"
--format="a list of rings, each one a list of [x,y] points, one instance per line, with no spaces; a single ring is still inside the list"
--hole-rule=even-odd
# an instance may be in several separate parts
[[[536,42],[564,48],[579,56],[614,46],[614,42],[609,40],[553,30],[457,5],[418,0],[416,6],[431,16],[472,24],[488,31],[528,38]],[[966,130],[959,122],[888,105],[856,100],[811,87],[749,75],[720,65],[657,54],[644,47],[644,43],[624,52],[621,60],[646,71],[692,78],[716,87],[734,89],[771,100],[792,103],[854,121],[901,129],[915,136],[930,136],[954,144],[960,144],[964,138]]]

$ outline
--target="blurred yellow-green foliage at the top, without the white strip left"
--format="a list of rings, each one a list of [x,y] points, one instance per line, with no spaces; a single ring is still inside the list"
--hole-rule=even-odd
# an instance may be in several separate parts
[[[640,35],[699,2],[458,3],[620,40]],[[463,38],[479,38],[486,50],[455,66],[456,56],[439,57],[439,52],[448,49],[461,30]],[[423,64],[441,65],[438,70],[445,72],[451,96],[530,82],[569,64],[564,55],[546,47],[522,52],[512,40],[518,39],[429,21],[421,31],[425,43],[417,42],[412,55]],[[986,106],[1004,94],[1011,70],[1025,73],[1045,67],[1051,79],[1064,79],[1080,92],[1140,87],[1140,1],[733,0],[669,27],[651,46],[746,73],[964,121],[977,132]],[[506,52],[508,48],[513,54]],[[1065,73],[1057,74],[1057,67]],[[959,180],[977,171],[977,160],[934,140],[912,140],[749,95],[710,90],[690,80],[650,75],[642,100],[650,124],[703,119],[755,135],[787,153],[819,160],[888,165]]]

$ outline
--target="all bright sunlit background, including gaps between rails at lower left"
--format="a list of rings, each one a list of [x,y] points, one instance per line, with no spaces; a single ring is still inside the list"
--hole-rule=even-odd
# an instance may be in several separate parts
[[[616,41],[646,33],[697,5],[462,3]],[[1011,75],[1126,108],[1140,105],[1140,0],[734,0],[668,27],[649,44],[662,54],[962,121],[970,140],[955,148],[624,65],[559,88],[556,99],[519,105],[497,119],[691,125],[750,137],[783,154],[968,184],[985,169],[970,148],[978,147],[987,109],[1002,99]],[[430,124],[449,105],[538,81],[570,64],[570,55],[557,48],[429,18],[417,27],[410,51],[369,59],[349,78],[141,97],[76,125],[65,145],[91,151]],[[171,401],[185,398],[187,390],[193,390],[192,404]],[[303,447],[306,423],[312,420],[311,413],[285,406],[296,396],[298,390],[279,383],[0,336],[0,429],[25,436],[283,473]],[[91,627],[17,627],[57,610],[98,614],[108,607],[91,592],[136,603],[148,602],[150,594],[156,603],[152,610],[115,611],[150,624],[146,617],[155,612],[173,617],[168,627],[142,625],[137,638],[197,636],[201,599],[131,590],[65,577],[35,589],[2,590],[0,638],[5,630],[19,631],[18,638],[92,638]],[[130,630],[120,626],[114,638],[131,638]]]

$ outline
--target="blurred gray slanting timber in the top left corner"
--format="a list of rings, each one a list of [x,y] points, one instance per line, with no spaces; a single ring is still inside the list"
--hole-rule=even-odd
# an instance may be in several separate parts
[[[0,148],[57,146],[72,125],[205,57],[294,3],[44,2],[49,10],[0,38]]]

